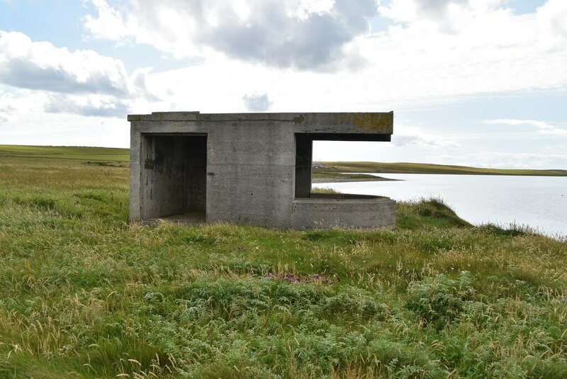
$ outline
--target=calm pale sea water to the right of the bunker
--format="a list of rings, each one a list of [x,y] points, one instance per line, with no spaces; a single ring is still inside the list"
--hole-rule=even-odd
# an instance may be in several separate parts
[[[394,200],[442,198],[457,215],[476,225],[491,222],[529,226],[552,236],[567,235],[567,177],[376,174],[402,181],[316,183],[343,193]]]

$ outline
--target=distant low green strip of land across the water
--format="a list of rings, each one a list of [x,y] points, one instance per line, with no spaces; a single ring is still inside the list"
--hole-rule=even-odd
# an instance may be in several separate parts
[[[381,172],[398,174],[477,174],[477,175],[529,175],[567,176],[567,170],[481,169],[467,166],[447,166],[425,163],[378,163],[378,162],[322,162],[327,169],[320,173],[337,172]]]

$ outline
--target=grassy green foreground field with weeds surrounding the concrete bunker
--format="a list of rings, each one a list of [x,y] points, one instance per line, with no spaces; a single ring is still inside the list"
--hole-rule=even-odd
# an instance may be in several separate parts
[[[0,157],[0,378],[567,376],[565,240],[436,199],[396,231],[130,225],[128,168],[62,158]]]

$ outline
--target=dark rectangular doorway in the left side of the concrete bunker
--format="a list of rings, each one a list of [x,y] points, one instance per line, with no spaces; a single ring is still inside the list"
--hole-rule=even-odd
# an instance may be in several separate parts
[[[205,222],[207,135],[142,135],[143,220]]]

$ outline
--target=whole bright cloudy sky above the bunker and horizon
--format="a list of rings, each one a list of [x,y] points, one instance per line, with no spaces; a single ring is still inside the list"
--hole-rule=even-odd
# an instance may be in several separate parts
[[[567,1],[0,0],[0,144],[157,111],[393,111],[313,159],[567,169]]]

